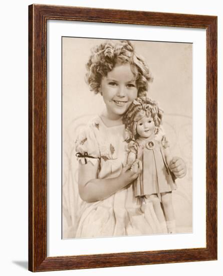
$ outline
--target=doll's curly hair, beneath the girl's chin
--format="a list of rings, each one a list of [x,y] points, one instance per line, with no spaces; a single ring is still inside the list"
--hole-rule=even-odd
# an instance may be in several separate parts
[[[159,127],[162,122],[163,110],[158,107],[155,100],[149,97],[138,97],[129,106],[123,116],[123,123],[128,132],[126,141],[135,140],[138,137],[136,132],[137,121],[144,116],[152,117],[155,126]]]

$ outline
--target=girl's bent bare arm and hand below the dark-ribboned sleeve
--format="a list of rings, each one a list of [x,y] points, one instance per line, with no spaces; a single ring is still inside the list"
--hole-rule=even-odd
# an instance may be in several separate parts
[[[87,202],[104,200],[135,180],[139,173],[131,172],[131,165],[122,168],[118,177],[98,179],[98,165],[79,163],[78,188],[80,197]]]

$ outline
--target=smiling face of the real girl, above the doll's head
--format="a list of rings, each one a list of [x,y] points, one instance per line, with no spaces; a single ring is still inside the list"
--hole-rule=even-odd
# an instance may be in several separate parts
[[[117,64],[106,77],[102,77],[100,89],[108,118],[121,118],[138,93],[130,65]]]

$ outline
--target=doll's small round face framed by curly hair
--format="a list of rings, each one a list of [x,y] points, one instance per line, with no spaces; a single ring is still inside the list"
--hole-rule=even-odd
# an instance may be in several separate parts
[[[152,117],[144,116],[137,121],[136,132],[143,138],[149,138],[155,131],[155,123]]]

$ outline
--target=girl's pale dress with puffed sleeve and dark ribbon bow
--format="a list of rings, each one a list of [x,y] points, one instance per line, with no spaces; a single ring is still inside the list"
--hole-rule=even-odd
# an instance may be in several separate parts
[[[95,117],[76,141],[79,162],[91,162],[95,166],[99,164],[99,179],[119,176],[128,154],[124,139],[124,124],[107,127],[99,116]],[[132,184],[102,201],[84,202],[76,237],[162,233],[152,203],[146,205],[146,217],[140,205],[140,199],[134,196]]]

